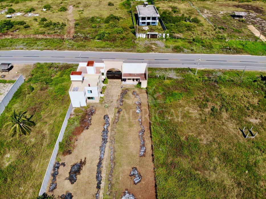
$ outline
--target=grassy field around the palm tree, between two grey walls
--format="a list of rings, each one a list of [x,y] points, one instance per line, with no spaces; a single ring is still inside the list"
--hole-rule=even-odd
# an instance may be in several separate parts
[[[0,198],[35,198],[70,100],[75,65],[37,63],[0,116]],[[34,90],[29,89],[32,86]],[[28,111],[36,123],[29,136],[12,138],[3,128],[13,111]]]

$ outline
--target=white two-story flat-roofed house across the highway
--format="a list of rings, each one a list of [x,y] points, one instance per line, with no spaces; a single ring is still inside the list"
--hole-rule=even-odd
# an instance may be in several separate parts
[[[139,26],[157,26],[160,15],[154,5],[148,5],[148,2],[144,2],[143,5],[138,5],[136,8]]]

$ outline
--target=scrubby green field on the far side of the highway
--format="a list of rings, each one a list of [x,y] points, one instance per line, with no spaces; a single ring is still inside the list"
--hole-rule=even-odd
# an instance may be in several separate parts
[[[39,16],[15,16],[11,19],[11,29],[3,30],[3,34],[12,34],[13,38],[1,39],[0,47],[10,49],[58,49],[58,50],[93,50],[93,51],[125,51],[125,52],[163,52],[163,53],[224,53],[265,55],[266,46],[256,42],[257,38],[247,29],[254,25],[257,29],[265,26],[265,2],[252,1],[192,1],[193,5],[208,18],[214,26],[207,22],[189,1],[155,1],[167,30],[162,31],[160,25],[150,26],[150,32],[169,33],[170,38],[136,39],[131,19],[137,4],[142,1],[113,0],[108,1],[13,1],[3,0],[0,10],[13,8],[18,11],[34,8],[32,13]],[[242,2],[242,1],[241,1]],[[51,9],[42,11],[49,4]],[[149,2],[151,4],[151,2]],[[72,9],[62,12],[60,7]],[[71,11],[70,11],[71,10]],[[248,17],[240,22],[230,16],[232,11],[245,11]],[[46,20],[42,20],[46,18]],[[73,21],[71,20],[73,19]],[[5,14],[0,14],[0,20]],[[24,21],[24,22],[21,22]],[[57,23],[58,22],[58,23]],[[72,25],[71,25],[72,23]],[[30,27],[25,28],[24,26]],[[7,27],[7,25],[5,25]],[[17,35],[49,34],[67,36],[73,30],[73,38],[16,38]],[[138,28],[138,32],[147,32]],[[265,34],[265,32],[263,32]],[[14,39],[14,37],[16,39]],[[238,39],[238,41],[236,41]],[[239,39],[245,41],[239,41]],[[249,41],[251,40],[251,41]]]

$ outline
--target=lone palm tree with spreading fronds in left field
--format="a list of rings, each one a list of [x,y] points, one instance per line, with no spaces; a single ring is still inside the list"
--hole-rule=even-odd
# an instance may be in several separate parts
[[[30,120],[32,116],[27,117],[26,113],[27,111],[16,113],[14,110],[9,117],[10,121],[3,126],[11,125],[9,134],[12,136],[16,134],[17,139],[21,135],[29,135],[30,131],[33,130],[32,126],[35,125],[35,123]]]

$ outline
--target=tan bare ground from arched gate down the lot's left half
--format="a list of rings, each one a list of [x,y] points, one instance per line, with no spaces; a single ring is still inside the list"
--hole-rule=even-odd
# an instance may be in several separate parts
[[[103,104],[100,103],[90,103],[88,105],[94,105],[96,109],[96,113],[92,116],[91,123],[92,125],[88,130],[84,130],[79,136],[77,136],[77,141],[75,142],[75,149],[72,154],[67,156],[59,156],[61,162],[65,162],[66,166],[60,166],[59,174],[56,177],[57,188],[54,190],[53,194],[58,197],[62,194],[65,194],[66,191],[71,192],[73,194],[73,198],[95,198],[95,194],[97,192],[96,189],[96,171],[97,171],[97,163],[99,161],[99,147],[101,145],[101,132],[103,130],[104,119],[103,116],[105,114],[110,117],[110,126],[109,133],[111,128],[111,117],[114,113],[114,107],[116,103],[116,99],[119,96],[121,89],[121,81],[119,80],[109,80],[109,84],[107,85],[107,89],[105,91],[105,99],[106,101]],[[104,108],[104,105],[108,104],[109,107],[107,109]],[[109,135],[108,135],[109,136]],[[105,179],[105,170],[108,161],[108,146],[107,143],[105,156],[103,160],[103,168],[102,168],[102,176]],[[83,166],[80,175],[77,175],[77,181],[71,185],[68,180],[65,180],[69,175],[69,171],[71,165],[77,163],[86,157],[86,164]],[[50,178],[50,182],[48,187],[46,188],[46,192],[49,190],[49,186],[51,183],[52,177]],[[102,182],[102,187],[104,186],[104,182]],[[49,192],[50,193],[50,192]]]

